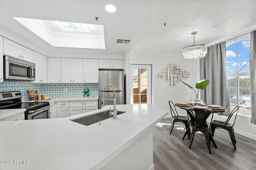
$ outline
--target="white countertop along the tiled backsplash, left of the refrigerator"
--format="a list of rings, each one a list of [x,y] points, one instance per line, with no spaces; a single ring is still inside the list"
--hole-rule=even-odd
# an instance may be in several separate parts
[[[50,100],[43,100],[39,102],[64,102],[64,101],[79,101],[79,100],[98,100],[98,96],[88,96],[88,97],[59,97],[59,98],[50,98]],[[34,100],[24,101],[24,102],[35,102]]]

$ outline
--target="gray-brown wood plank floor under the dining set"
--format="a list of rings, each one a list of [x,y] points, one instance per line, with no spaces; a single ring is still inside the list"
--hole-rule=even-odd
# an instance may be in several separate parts
[[[171,118],[162,119],[153,130],[155,170],[256,170],[256,141],[235,134],[236,150],[228,131],[216,129],[209,153],[204,135],[196,133],[191,149],[188,137],[181,140],[184,124],[176,122],[170,135]]]

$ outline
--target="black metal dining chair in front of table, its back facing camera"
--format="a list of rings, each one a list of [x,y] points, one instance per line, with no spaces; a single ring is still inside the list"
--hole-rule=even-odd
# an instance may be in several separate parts
[[[194,111],[195,117],[191,117],[190,113],[193,111]],[[212,123],[213,112],[210,110],[205,110],[205,109],[188,109],[187,114],[188,114],[188,122],[189,122],[189,127],[190,127],[189,149],[191,149],[191,145],[193,143],[195,133],[197,131],[200,131],[204,134],[204,137],[206,140],[206,145],[209,149],[209,153],[211,154],[212,152],[211,152],[210,142],[212,141],[214,147],[217,147],[216,143],[214,142],[214,139],[212,138],[212,135],[210,134],[210,126]],[[212,115],[212,117],[211,117],[211,121],[209,123],[210,125],[208,125],[206,122],[206,119],[210,115]]]

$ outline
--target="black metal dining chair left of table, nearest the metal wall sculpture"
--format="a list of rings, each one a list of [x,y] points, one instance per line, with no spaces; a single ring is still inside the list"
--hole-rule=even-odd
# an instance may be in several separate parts
[[[186,116],[179,116],[178,112],[176,110],[175,105],[173,104],[172,101],[168,101],[169,106],[170,106],[170,110],[171,110],[171,115],[172,115],[172,126],[171,126],[171,131],[170,131],[170,135],[172,133],[172,129],[174,127],[174,123],[175,122],[181,122],[185,124],[186,130],[188,129],[188,117]],[[190,138],[190,135],[188,134],[188,139]]]

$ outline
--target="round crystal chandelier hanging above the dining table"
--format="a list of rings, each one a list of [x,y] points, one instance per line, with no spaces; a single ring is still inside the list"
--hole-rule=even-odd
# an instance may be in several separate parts
[[[187,47],[184,47],[182,50],[182,55],[184,59],[200,59],[205,57],[207,53],[207,47],[203,44],[195,45],[195,34],[197,32],[194,31],[191,34],[194,35],[194,45],[190,45]]]

